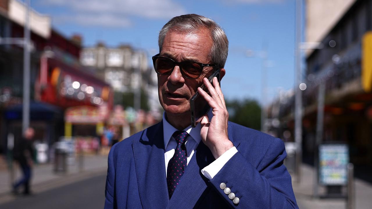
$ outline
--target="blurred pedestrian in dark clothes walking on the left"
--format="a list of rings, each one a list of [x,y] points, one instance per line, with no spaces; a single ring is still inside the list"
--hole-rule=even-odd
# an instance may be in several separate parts
[[[22,178],[13,184],[13,193],[18,193],[18,188],[23,185],[23,194],[30,194],[30,180],[32,176],[32,166],[33,166],[33,137],[35,135],[35,130],[33,128],[27,128],[23,134],[22,139],[17,143],[14,148],[14,158],[18,161],[20,168],[22,169]]]

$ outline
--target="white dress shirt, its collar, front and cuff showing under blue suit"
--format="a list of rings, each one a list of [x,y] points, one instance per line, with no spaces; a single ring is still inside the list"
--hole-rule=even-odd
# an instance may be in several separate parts
[[[167,167],[170,159],[174,155],[174,149],[177,146],[176,139],[173,138],[173,133],[175,131],[178,131],[176,128],[174,128],[170,123],[166,120],[165,112],[163,114],[163,134],[164,134],[164,147],[165,147],[165,153],[164,153],[164,159],[165,159],[165,173],[167,173]],[[212,111],[210,110],[208,112],[208,118],[209,121],[211,121],[213,115]],[[200,135],[200,123],[196,125],[195,128],[192,128],[191,125],[184,129],[189,136],[186,138],[185,147],[186,147],[186,153],[187,153],[187,164],[189,164],[191,157],[193,156],[195,149],[198,147],[200,141],[201,141],[201,135]],[[206,166],[201,170],[202,174],[207,177],[209,180],[211,180],[219,170],[227,163],[230,158],[237,153],[238,150],[236,147],[230,148],[228,151],[226,151],[224,154],[222,154],[219,158],[217,158],[215,161],[213,161],[211,164]]]

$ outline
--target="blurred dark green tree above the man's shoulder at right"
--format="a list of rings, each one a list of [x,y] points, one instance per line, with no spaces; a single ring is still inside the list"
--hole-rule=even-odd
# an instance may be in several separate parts
[[[260,130],[261,107],[256,100],[226,100],[226,107],[231,122]]]

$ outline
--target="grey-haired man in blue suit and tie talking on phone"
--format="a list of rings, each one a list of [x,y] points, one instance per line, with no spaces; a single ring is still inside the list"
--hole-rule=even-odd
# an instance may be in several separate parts
[[[174,17],[153,57],[163,120],[112,147],[105,208],[298,208],[280,139],[232,122],[214,78],[228,41],[213,20]],[[198,88],[208,87],[209,94]],[[195,128],[189,99],[211,106]]]

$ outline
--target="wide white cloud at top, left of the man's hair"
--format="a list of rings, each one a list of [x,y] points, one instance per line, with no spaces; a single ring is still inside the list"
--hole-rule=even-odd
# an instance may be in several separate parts
[[[170,19],[186,13],[172,0],[41,0],[41,4],[68,11],[55,17],[55,22],[76,22],[84,26],[128,27],[131,16]]]

